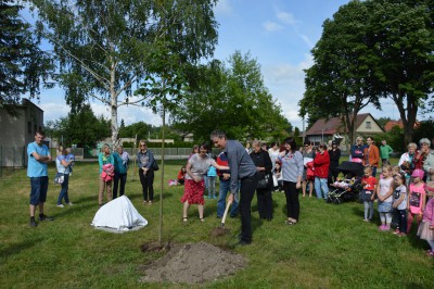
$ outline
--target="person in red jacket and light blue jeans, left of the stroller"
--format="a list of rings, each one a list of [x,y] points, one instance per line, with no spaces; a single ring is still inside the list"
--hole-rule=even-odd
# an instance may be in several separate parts
[[[329,197],[329,166],[330,156],[327,151],[327,146],[320,143],[314,159],[315,192],[318,199],[323,198],[327,200]]]

